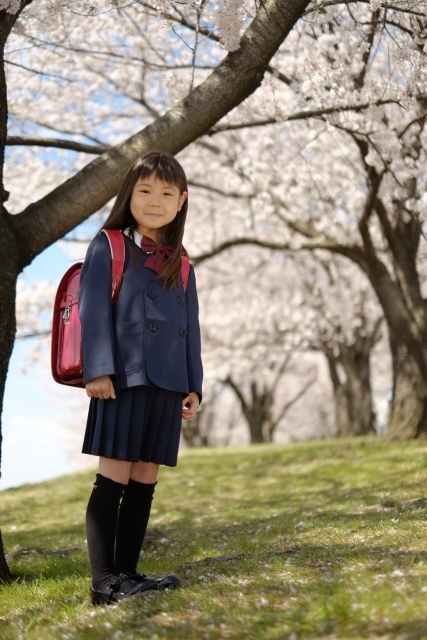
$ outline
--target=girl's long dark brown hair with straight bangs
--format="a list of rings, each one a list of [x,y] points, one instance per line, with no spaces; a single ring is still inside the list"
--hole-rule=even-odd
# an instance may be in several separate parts
[[[134,242],[134,232],[137,227],[135,218],[130,211],[130,199],[132,190],[140,178],[147,178],[151,174],[158,180],[173,184],[179,189],[180,195],[187,191],[187,178],[184,169],[169,153],[163,151],[149,151],[135,160],[129,167],[122,184],[120,185],[117,198],[101,229],[124,229],[129,228],[129,242],[126,246],[132,256],[132,263],[138,264],[138,248]],[[157,276],[163,286],[176,288],[180,282],[181,274],[181,254],[187,255],[182,246],[184,236],[184,226],[188,210],[188,197],[185,199],[176,217],[169,224],[159,229],[159,244],[175,247],[174,252],[167,261],[163,271]],[[125,240],[127,240],[125,236]]]

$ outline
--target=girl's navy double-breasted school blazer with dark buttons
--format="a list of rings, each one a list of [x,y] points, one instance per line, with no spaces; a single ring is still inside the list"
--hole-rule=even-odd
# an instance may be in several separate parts
[[[126,239],[126,242],[131,242]],[[126,251],[117,304],[111,304],[111,251],[105,234],[91,242],[83,264],[79,316],[82,324],[83,382],[112,377],[114,387],[158,386],[201,400],[196,277],[190,267],[187,291],[163,287],[157,273],[144,267],[140,252],[134,267]]]

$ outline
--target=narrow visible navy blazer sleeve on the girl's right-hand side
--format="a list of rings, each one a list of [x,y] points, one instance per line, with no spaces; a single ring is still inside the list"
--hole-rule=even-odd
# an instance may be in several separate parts
[[[196,275],[190,266],[187,291],[187,371],[190,392],[195,391],[202,401],[203,366],[199,325],[199,302],[197,299]]]

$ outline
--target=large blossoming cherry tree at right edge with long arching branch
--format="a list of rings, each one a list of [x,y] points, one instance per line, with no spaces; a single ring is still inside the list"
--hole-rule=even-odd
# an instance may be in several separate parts
[[[324,249],[356,264],[389,334],[391,439],[427,429],[425,27],[416,2],[328,2],[313,20],[307,13],[291,38],[310,46],[281,48],[282,76],[262,107],[243,113],[245,104],[240,121],[216,129],[222,163],[206,186],[225,185],[238,213],[198,255],[249,244]]]

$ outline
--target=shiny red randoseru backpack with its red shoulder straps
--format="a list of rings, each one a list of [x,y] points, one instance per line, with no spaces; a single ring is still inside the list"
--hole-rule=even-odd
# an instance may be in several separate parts
[[[110,243],[112,289],[111,303],[119,297],[125,264],[125,242],[118,230],[103,229]],[[78,314],[80,274],[83,262],[77,262],[64,274],[55,297],[52,320],[51,368],[59,384],[84,387],[82,360],[82,328]],[[181,257],[182,284],[187,289],[190,273],[188,256]]]

